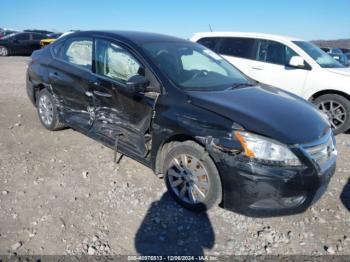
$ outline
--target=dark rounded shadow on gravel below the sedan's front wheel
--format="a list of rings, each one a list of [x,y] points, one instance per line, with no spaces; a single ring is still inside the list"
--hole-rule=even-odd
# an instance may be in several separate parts
[[[180,208],[168,193],[149,208],[135,237],[141,255],[203,255],[214,246],[207,213]]]

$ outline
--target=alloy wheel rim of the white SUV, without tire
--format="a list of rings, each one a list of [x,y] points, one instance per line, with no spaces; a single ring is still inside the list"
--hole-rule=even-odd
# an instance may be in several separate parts
[[[322,101],[318,104],[319,110],[325,113],[333,129],[342,126],[347,118],[345,107],[333,100]]]

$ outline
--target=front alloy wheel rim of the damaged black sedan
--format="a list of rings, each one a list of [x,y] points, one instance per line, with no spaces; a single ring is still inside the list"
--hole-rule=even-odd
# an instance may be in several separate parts
[[[197,204],[204,201],[209,187],[209,175],[197,158],[181,154],[173,158],[167,171],[169,185],[184,202]]]

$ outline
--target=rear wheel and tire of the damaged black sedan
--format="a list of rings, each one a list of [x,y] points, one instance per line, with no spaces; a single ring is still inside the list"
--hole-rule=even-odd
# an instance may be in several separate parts
[[[39,92],[36,104],[40,122],[46,129],[56,131],[65,127],[65,125],[59,121],[54,98],[47,89],[43,89]]]

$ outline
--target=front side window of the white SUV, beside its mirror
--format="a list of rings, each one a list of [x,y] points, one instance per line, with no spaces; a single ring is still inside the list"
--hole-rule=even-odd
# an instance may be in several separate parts
[[[293,56],[297,56],[297,53],[284,44],[269,40],[259,40],[256,55],[258,61],[287,65]]]

